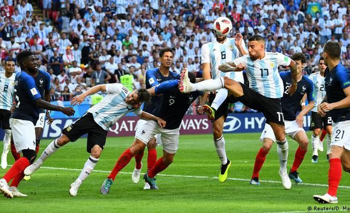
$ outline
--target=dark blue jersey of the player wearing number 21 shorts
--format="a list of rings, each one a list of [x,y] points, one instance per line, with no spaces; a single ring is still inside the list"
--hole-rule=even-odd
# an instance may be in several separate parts
[[[350,86],[350,70],[339,63],[330,71],[327,67],[324,76],[327,103],[338,102],[346,98],[343,89]],[[333,122],[350,120],[350,107],[333,109],[330,111],[330,116]]]

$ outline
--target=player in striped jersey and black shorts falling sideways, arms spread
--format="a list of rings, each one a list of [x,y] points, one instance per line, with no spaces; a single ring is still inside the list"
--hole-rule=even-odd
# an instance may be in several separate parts
[[[145,89],[129,91],[120,83],[96,85],[81,95],[74,97],[71,104],[80,104],[86,96],[97,92],[106,92],[107,95],[96,105],[70,126],[62,130],[62,135],[53,140],[41,154],[39,159],[24,170],[25,175],[31,175],[38,170],[43,162],[55,153],[58,148],[69,142],[74,142],[82,135],[87,134],[86,151],[90,153],[79,177],[70,185],[69,194],[76,196],[81,183],[87,178],[96,166],[103,150],[108,129],[115,122],[129,112],[134,112],[145,120],[153,120],[163,127],[165,121],[149,113],[142,112],[141,103],[150,99],[150,94]]]

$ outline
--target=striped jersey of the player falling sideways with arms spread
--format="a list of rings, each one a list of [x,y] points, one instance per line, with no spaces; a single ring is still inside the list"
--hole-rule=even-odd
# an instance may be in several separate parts
[[[125,98],[130,91],[122,84],[106,84],[107,95],[96,105],[87,110],[93,115],[93,120],[104,130],[108,131],[120,118],[129,112],[140,115],[140,108],[132,108],[125,102]]]

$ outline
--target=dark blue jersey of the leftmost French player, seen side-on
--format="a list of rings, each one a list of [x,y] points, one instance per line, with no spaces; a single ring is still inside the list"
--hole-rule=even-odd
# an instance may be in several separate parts
[[[39,109],[34,101],[41,96],[34,78],[26,72],[18,72],[14,80],[14,95],[17,105],[11,118],[31,121],[35,125],[39,118]]]

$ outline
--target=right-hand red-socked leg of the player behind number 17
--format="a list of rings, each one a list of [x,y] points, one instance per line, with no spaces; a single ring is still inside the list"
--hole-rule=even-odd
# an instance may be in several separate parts
[[[296,128],[298,128],[296,122],[294,121],[291,121],[291,122],[295,123]],[[307,152],[307,146],[308,146],[307,135],[303,129],[297,131],[296,133],[291,133],[292,135],[289,132],[287,132],[287,134],[290,135],[299,144],[295,152],[293,165],[289,172],[289,178],[294,180],[295,183],[302,183],[302,180],[298,176],[297,170],[300,167],[302,160],[304,159],[305,154]]]

